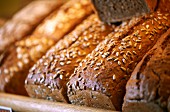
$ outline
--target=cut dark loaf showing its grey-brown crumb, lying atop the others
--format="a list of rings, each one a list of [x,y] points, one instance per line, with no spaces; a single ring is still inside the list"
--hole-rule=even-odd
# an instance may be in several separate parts
[[[114,23],[153,12],[157,0],[91,0],[100,19]]]

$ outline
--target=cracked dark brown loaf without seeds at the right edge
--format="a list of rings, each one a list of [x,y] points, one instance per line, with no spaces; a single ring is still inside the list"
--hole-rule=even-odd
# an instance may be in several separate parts
[[[170,112],[170,29],[142,58],[126,85],[124,112]]]

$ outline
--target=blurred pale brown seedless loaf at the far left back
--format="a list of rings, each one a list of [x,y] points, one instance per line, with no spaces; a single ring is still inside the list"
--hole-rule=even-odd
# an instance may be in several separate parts
[[[0,52],[30,34],[34,28],[65,0],[33,1],[0,28]]]

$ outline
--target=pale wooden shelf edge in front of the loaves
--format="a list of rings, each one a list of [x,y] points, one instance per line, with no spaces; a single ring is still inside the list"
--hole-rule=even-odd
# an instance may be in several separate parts
[[[10,107],[13,111],[22,112],[114,112],[7,93],[0,93],[0,106]]]

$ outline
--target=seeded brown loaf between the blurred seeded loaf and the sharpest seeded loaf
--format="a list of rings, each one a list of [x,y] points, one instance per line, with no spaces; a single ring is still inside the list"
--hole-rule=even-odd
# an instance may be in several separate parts
[[[95,14],[77,26],[32,67],[25,83],[29,96],[68,102],[66,83],[74,68],[114,27],[103,24]],[[66,46],[61,44],[65,42]]]

